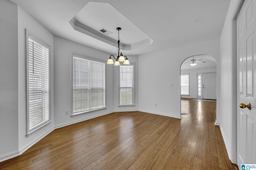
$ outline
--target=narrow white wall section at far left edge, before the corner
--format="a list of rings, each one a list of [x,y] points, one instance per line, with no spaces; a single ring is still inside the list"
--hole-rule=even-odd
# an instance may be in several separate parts
[[[0,162],[18,154],[17,5],[0,1]]]

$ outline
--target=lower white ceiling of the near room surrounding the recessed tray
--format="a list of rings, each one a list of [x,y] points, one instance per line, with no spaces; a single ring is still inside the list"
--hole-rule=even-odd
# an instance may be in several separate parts
[[[27,11],[54,35],[105,51],[117,53],[117,47],[73,29],[69,21],[88,2],[109,3],[154,42],[122,51],[141,55],[220,37],[230,0],[10,0]],[[103,15],[99,9],[93,9]],[[94,15],[95,16],[95,15]],[[85,16],[93,23],[94,16]],[[105,16],[105,15],[104,15]],[[103,16],[103,17],[104,17]],[[107,16],[107,13],[106,13]],[[79,16],[82,18],[82,16]],[[132,41],[132,27],[118,22],[120,16],[105,17],[103,27],[115,31],[122,27],[120,39]],[[86,23],[84,23],[86,24]],[[101,25],[101,24],[100,24]],[[90,26],[90,25],[87,25]],[[109,31],[110,31],[109,30]],[[131,31],[129,31],[131,30]],[[114,32],[113,31],[113,32]],[[122,32],[123,31],[123,32]],[[116,37],[117,39],[118,37]],[[116,45],[117,46],[117,45]]]

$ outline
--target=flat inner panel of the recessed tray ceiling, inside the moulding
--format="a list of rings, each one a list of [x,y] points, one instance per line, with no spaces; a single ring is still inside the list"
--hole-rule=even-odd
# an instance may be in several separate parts
[[[95,31],[104,27],[112,33],[108,35],[108,37],[114,39],[115,43],[118,39],[118,31],[116,30],[116,27],[120,27],[120,25],[122,25],[122,29],[120,30],[120,43],[136,44],[149,39],[145,33],[138,29],[136,25],[129,21],[109,3],[88,2],[88,4],[86,4],[74,18],[76,21]],[[102,34],[105,35],[104,33]],[[124,35],[126,35],[125,38],[123,38]]]

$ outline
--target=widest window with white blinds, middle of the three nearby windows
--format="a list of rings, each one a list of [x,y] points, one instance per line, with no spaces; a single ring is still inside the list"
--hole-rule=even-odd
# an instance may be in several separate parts
[[[105,107],[105,63],[73,55],[72,115]]]

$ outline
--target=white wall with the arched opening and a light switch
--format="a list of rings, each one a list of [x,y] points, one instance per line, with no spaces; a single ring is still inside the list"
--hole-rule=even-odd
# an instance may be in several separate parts
[[[220,87],[220,39],[140,55],[139,110],[180,118],[180,65],[186,58],[198,54],[210,55],[216,60],[217,87]],[[168,87],[169,83],[173,87]],[[217,88],[217,101],[219,96]]]

